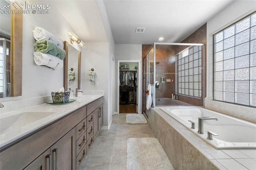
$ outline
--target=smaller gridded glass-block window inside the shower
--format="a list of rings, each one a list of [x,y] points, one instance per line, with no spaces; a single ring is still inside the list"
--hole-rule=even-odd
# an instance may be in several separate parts
[[[201,46],[192,46],[178,54],[178,93],[201,97]]]

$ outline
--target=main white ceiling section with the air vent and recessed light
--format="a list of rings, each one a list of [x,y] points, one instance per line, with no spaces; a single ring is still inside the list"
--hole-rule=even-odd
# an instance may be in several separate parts
[[[233,0],[103,1],[116,44],[152,44],[181,42]]]

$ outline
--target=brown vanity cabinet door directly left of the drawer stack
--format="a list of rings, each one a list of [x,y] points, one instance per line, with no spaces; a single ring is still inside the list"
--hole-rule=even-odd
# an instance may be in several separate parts
[[[76,128],[52,145],[52,170],[76,169]]]

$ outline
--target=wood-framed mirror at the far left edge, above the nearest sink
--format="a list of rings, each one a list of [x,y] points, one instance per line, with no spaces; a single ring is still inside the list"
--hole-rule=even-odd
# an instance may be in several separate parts
[[[0,7],[10,3],[1,0]],[[14,6],[10,10],[16,9]],[[0,17],[0,98],[22,95],[22,13]]]

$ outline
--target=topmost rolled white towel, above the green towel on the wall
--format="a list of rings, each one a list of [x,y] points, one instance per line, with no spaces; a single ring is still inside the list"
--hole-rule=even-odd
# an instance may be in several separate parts
[[[62,41],[60,41],[56,36],[54,36],[52,33],[44,30],[43,28],[36,27],[33,31],[34,38],[36,41],[42,41],[42,40],[49,40],[51,42],[54,42],[58,47],[64,48],[64,44]]]

